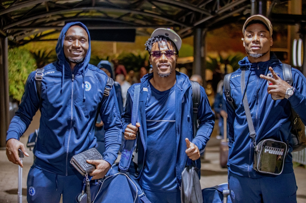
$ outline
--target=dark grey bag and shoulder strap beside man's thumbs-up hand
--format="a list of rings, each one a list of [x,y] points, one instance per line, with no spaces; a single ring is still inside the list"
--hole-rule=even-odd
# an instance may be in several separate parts
[[[190,81],[192,86],[193,103],[193,138],[197,131],[198,106],[200,104],[200,85],[195,81]],[[191,164],[192,162],[192,164]],[[191,166],[190,166],[191,165]],[[196,168],[195,161],[187,158],[185,169],[182,172],[181,202],[182,203],[202,203],[202,192],[199,179],[200,169]]]

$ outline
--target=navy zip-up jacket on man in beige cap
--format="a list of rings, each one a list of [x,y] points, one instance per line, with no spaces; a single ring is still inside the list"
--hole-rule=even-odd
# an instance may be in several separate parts
[[[235,101],[236,109],[233,110],[226,100],[229,124],[229,160],[230,172],[243,177],[260,178],[267,176],[253,169],[254,148],[250,138],[248,122],[244,112],[241,94],[241,68],[246,68],[245,84],[248,104],[251,111],[256,143],[264,139],[275,139],[287,143],[289,153],[285,157],[282,173],[293,172],[292,164],[292,139],[291,139],[291,107],[306,123],[306,79],[297,69],[292,68],[294,94],[289,99],[273,100],[267,92],[268,82],[259,77],[260,74],[270,73],[271,66],[274,72],[279,73],[282,80],[283,70],[280,62],[273,52],[266,62],[250,63],[248,57],[239,62],[240,69],[233,72],[230,78],[231,97]]]

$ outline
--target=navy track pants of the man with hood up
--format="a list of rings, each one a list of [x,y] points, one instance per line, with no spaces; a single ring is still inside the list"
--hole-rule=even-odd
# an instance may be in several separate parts
[[[63,203],[76,202],[82,192],[84,177],[81,174],[61,176],[32,166],[28,173],[28,203],[57,203],[63,195]]]

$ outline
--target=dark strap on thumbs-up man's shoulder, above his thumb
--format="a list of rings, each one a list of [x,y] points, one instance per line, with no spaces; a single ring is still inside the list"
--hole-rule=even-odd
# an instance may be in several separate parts
[[[200,104],[200,84],[196,81],[191,82],[191,88],[192,88],[192,106],[193,106],[193,138],[196,137],[196,131],[198,129],[197,126],[197,120],[198,120],[198,107]]]

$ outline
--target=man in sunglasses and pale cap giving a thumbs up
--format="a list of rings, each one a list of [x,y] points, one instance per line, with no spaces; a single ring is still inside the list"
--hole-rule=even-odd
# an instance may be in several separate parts
[[[197,168],[201,167],[200,151],[215,124],[207,95],[200,87],[200,126],[192,139],[191,82],[188,76],[175,71],[181,44],[181,38],[171,29],[159,28],[152,33],[145,45],[153,73],[141,79],[139,123],[130,124],[135,85],[128,90],[121,119],[125,139],[135,139],[138,128],[140,130],[138,179],[151,202],[181,202],[181,173],[190,159],[195,160]]]

